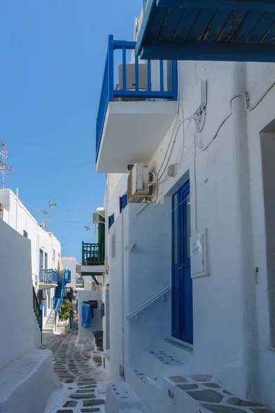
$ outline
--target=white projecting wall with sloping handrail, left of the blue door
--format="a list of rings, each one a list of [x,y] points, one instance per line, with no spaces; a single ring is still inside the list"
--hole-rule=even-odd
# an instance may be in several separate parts
[[[126,374],[129,366],[140,366],[143,352],[170,337],[170,293],[165,301],[157,300],[145,308],[138,320],[126,321],[129,313],[170,287],[167,216],[163,204],[148,204],[145,208],[141,204],[128,204],[110,229],[111,374],[115,379],[120,378],[120,365]],[[130,251],[134,243],[136,249]]]

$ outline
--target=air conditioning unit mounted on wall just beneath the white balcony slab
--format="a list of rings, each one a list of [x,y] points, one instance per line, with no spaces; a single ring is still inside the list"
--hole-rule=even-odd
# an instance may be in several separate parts
[[[127,183],[127,201],[142,202],[144,198],[151,196],[149,166],[145,163],[136,163],[129,173]]]

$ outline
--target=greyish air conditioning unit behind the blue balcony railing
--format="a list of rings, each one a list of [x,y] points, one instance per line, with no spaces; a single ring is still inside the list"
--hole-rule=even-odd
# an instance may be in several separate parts
[[[138,65],[138,89],[147,90],[147,65],[141,64]],[[118,89],[123,89],[123,70],[122,65],[118,66]],[[135,89],[135,63],[129,63],[126,65],[126,89],[134,90]]]

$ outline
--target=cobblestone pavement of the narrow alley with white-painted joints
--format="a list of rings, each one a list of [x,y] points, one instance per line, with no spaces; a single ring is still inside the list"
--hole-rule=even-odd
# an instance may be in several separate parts
[[[75,328],[65,335],[43,335],[42,348],[52,350],[54,371],[63,383],[44,413],[103,413],[108,377],[91,363],[92,341],[78,341]]]

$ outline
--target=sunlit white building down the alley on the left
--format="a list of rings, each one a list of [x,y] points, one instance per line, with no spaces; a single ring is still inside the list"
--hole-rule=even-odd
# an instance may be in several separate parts
[[[54,271],[55,277],[58,271],[58,260],[61,257],[61,244],[53,233],[48,233],[39,226],[28,209],[10,189],[0,190],[0,204],[3,206],[3,221],[31,242],[32,284],[36,293],[39,290],[45,290],[46,299],[41,301],[43,318],[45,318],[52,310],[54,287],[57,285],[57,279],[54,280],[56,282],[50,282],[49,277],[52,277],[50,270]],[[47,282],[45,282],[45,274],[43,276],[45,270],[49,270],[46,275]]]

